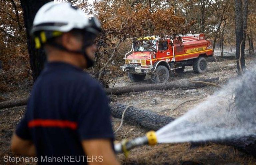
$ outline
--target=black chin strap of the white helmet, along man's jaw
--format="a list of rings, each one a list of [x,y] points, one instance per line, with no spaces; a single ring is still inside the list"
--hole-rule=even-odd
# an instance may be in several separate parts
[[[85,48],[87,48],[88,46],[90,46],[89,44],[86,44],[85,41],[83,41],[83,47],[81,50],[78,50],[78,51],[72,51],[72,50],[69,50],[67,48],[65,48],[64,46],[62,45],[59,45],[57,44],[56,42],[48,42],[47,44],[59,49],[59,50],[63,50],[63,51],[66,51],[66,52],[70,52],[70,53],[75,53],[75,54],[82,54],[86,60],[86,68],[91,68],[93,65],[94,65],[94,62],[93,60],[91,60],[88,56],[88,54],[86,53],[85,51]]]

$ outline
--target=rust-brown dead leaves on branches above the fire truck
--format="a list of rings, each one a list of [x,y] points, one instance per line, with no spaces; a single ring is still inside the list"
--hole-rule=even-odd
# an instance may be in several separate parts
[[[183,16],[175,15],[173,8],[154,10],[141,4],[131,6],[125,1],[103,0],[95,4],[104,33],[117,38],[149,35],[186,34],[195,23],[186,23]]]

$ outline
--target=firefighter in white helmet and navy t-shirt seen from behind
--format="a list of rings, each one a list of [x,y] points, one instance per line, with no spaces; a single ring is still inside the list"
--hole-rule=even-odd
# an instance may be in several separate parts
[[[73,164],[119,164],[107,96],[83,71],[93,66],[93,43],[100,31],[95,17],[88,19],[69,3],[49,2],[39,9],[31,35],[36,48],[44,48],[47,64],[12,137],[14,153],[37,156],[39,164],[49,163],[49,158]]]

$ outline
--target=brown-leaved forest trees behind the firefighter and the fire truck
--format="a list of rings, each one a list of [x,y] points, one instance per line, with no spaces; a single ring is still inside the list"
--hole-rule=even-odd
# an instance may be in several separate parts
[[[27,42],[22,1],[24,3],[24,0],[0,1],[0,92],[31,86],[45,61],[45,57],[29,56],[27,43],[31,41]],[[65,2],[83,9],[88,16],[97,16],[102,24],[103,33],[95,41],[96,65],[88,72],[105,87],[123,74],[120,66],[124,64],[124,54],[130,51],[134,37],[204,33],[206,39],[212,41],[213,50],[220,49],[223,57],[224,49],[235,51],[238,43],[236,21],[241,18],[244,24],[247,20],[247,30],[244,32],[246,35],[243,36],[245,49],[254,54],[255,0]],[[239,15],[239,7],[247,13],[247,17],[243,17],[243,13]]]

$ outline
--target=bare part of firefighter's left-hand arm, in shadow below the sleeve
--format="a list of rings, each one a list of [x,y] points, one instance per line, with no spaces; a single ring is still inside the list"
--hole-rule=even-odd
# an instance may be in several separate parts
[[[24,140],[16,135],[13,134],[11,140],[11,151],[17,155],[24,155],[24,156],[36,156],[36,148],[33,142],[30,140]]]

